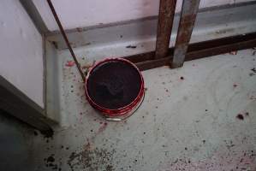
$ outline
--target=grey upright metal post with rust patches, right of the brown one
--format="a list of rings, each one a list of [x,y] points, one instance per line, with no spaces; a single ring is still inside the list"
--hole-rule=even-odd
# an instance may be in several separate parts
[[[198,13],[199,3],[200,0],[183,0],[174,57],[171,62],[172,68],[180,68],[183,65]]]

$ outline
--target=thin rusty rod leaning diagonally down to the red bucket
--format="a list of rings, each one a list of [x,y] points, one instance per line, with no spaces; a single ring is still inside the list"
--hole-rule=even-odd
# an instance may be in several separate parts
[[[72,56],[73,59],[74,59],[75,65],[76,65],[76,67],[78,68],[78,71],[79,71],[79,73],[80,73],[80,76],[81,76],[82,80],[83,80],[84,82],[86,82],[86,77],[85,77],[85,75],[83,74],[82,69],[80,68],[80,63],[77,61],[77,59],[76,59],[76,57],[75,57],[75,55],[74,55],[74,51],[72,50],[71,45],[69,44],[68,37],[67,37],[65,31],[63,30],[62,23],[61,23],[61,21],[59,20],[59,18],[58,18],[58,16],[57,16],[56,10],[54,9],[54,7],[53,7],[53,5],[52,5],[51,0],[47,0],[47,2],[48,2],[49,7],[50,7],[50,9],[51,9],[52,15],[54,16],[55,20],[57,21],[57,25],[58,25],[58,27],[60,28],[60,31],[61,31],[62,34],[63,34],[63,38],[64,38],[64,40],[65,40],[65,42],[66,42],[66,44],[67,44],[67,46],[68,46],[68,50],[70,51],[71,56]]]

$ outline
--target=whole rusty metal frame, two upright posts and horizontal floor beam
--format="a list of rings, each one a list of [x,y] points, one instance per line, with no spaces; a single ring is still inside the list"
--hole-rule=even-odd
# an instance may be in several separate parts
[[[164,65],[170,65],[172,68],[179,68],[182,67],[184,61],[216,56],[231,50],[243,50],[256,46],[256,32],[189,44],[196,15],[199,11],[200,0],[183,0],[176,45],[175,47],[169,48],[170,32],[173,21],[173,18],[170,18],[170,15],[172,14],[172,8],[174,7],[172,5],[174,5],[175,2],[175,0],[161,0],[160,2],[156,51],[124,57],[129,61],[134,62],[140,70],[158,68]],[[170,10],[169,13],[164,11],[166,9]],[[172,17],[174,17],[174,15],[172,15]],[[168,24],[168,29],[167,27],[161,27],[164,26],[167,21],[170,22]],[[166,37],[163,38],[164,36]]]

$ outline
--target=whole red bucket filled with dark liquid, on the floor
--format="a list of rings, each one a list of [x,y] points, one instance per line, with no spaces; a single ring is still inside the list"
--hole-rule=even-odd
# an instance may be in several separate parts
[[[86,98],[107,120],[121,121],[132,115],[144,93],[140,70],[122,58],[98,62],[86,76]]]

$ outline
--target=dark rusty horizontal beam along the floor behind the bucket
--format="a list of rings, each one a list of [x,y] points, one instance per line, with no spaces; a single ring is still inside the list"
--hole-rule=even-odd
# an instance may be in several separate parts
[[[235,35],[226,38],[217,38],[199,43],[189,44],[185,61],[196,60],[208,56],[216,56],[233,50],[244,50],[256,47],[256,32]],[[169,49],[168,56],[161,59],[154,59],[154,51],[124,56],[130,62],[140,68],[141,71],[151,68],[158,68],[170,65],[173,59],[174,47]]]

